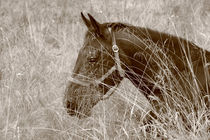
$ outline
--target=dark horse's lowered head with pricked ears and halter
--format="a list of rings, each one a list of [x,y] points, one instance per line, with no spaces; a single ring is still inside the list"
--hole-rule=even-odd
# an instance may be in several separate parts
[[[119,54],[117,48],[113,50],[115,38],[108,24],[100,24],[90,14],[89,19],[82,13],[81,16],[88,31],[66,89],[64,104],[71,116],[85,117],[123,76],[116,62]]]

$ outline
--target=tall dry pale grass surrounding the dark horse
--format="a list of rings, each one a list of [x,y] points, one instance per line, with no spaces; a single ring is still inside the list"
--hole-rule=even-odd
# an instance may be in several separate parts
[[[210,139],[205,106],[186,114],[191,130],[169,110],[147,134],[141,120],[151,106],[127,79],[89,118],[70,117],[63,97],[87,30],[80,12],[184,37],[210,51],[209,0],[0,0],[0,139]]]

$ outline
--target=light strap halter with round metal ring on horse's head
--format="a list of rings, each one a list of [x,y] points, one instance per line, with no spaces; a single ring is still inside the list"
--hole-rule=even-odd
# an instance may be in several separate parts
[[[103,81],[116,70],[119,72],[119,75],[120,75],[121,78],[123,78],[125,76],[125,71],[122,69],[121,64],[120,64],[119,47],[116,44],[116,39],[115,39],[114,32],[112,31],[111,27],[108,27],[108,30],[109,30],[109,32],[111,34],[111,37],[112,37],[112,51],[114,52],[115,65],[111,69],[109,69],[107,73],[105,73],[101,78],[99,78],[97,80],[84,82],[84,81],[80,81],[80,80],[71,78],[71,79],[69,79],[71,82],[76,83],[76,84],[80,84],[82,86],[89,86],[90,84],[105,85],[103,83]],[[106,95],[104,95],[102,97],[101,100],[105,100],[105,99],[109,98],[114,93],[117,86],[118,85],[115,85],[112,88],[110,88],[110,90],[106,93]]]

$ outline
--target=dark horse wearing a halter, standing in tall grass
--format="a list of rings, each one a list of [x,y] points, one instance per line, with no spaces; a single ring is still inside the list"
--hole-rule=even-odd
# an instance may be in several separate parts
[[[191,92],[209,95],[209,51],[175,35],[121,22],[99,23],[87,15],[81,12],[87,31],[65,90],[70,116],[90,116],[124,78],[154,107],[167,100],[165,94],[180,96],[181,102],[192,101]]]

